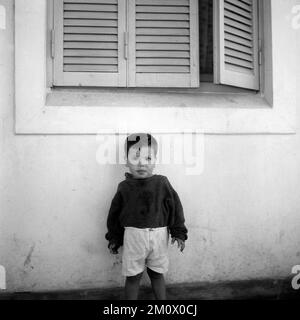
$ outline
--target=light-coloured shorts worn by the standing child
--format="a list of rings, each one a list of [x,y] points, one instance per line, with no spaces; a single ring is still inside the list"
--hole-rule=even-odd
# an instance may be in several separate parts
[[[168,243],[167,227],[125,227],[122,275],[135,276],[143,272],[145,266],[158,273],[167,272],[169,267]]]

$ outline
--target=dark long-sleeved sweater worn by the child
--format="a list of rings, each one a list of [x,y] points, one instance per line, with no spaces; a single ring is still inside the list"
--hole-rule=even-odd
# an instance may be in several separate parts
[[[169,228],[172,237],[187,239],[184,214],[177,192],[167,177],[134,179],[130,173],[119,183],[107,218],[105,238],[123,245],[124,227]]]

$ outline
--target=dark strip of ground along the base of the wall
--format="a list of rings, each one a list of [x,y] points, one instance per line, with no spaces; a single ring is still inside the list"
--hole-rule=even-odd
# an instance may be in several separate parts
[[[0,293],[0,300],[121,300],[123,288],[86,289],[55,292]],[[150,287],[141,287],[140,300],[153,300]],[[167,285],[168,300],[223,300],[223,299],[299,299],[300,289],[291,287],[291,279],[260,279],[216,283],[181,283]]]

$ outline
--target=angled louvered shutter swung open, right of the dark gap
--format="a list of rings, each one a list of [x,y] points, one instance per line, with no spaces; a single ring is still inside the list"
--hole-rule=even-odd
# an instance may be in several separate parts
[[[257,0],[219,0],[215,4],[215,82],[258,90]]]

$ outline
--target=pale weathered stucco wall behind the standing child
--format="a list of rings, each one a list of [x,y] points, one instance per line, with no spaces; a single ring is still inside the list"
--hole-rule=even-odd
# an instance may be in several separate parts
[[[278,1],[281,21],[291,23],[298,1]],[[110,256],[104,234],[124,168],[96,162],[92,135],[14,134],[13,1],[0,5],[7,15],[0,29],[0,264],[8,290],[122,285],[120,259]],[[287,78],[297,72],[298,84],[299,55],[300,47],[282,70]],[[299,90],[293,94],[300,102]],[[297,124],[299,131],[299,113]],[[159,166],[182,199],[189,229],[184,254],[170,248],[167,282],[288,276],[300,264],[299,164],[297,133],[207,135],[200,176]]]

